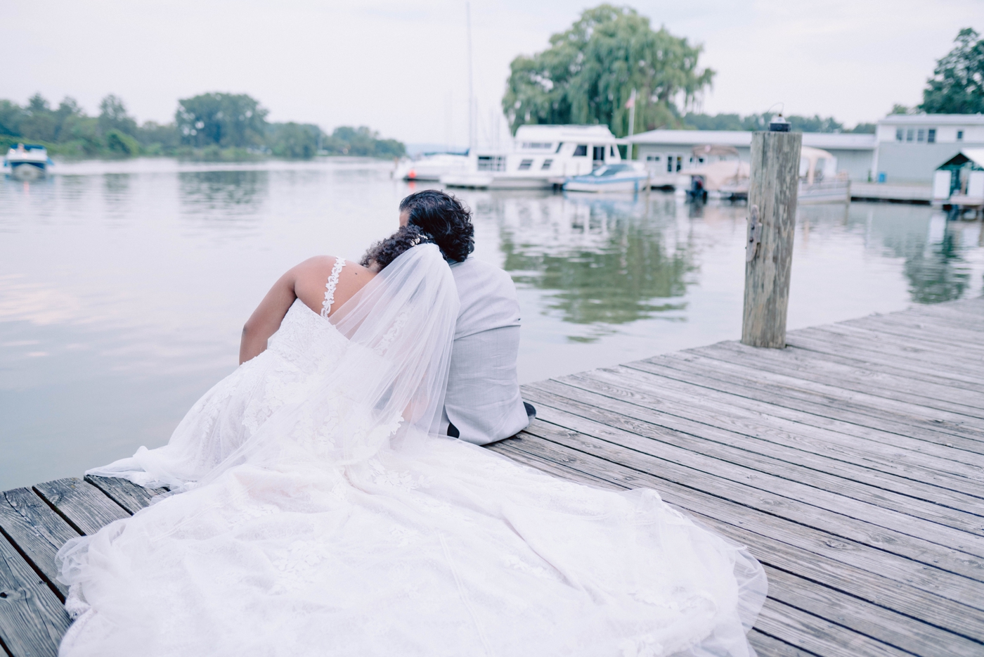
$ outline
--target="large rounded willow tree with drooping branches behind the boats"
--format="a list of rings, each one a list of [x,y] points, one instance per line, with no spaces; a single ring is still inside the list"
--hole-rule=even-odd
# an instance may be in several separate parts
[[[528,123],[603,123],[623,136],[635,89],[635,132],[676,124],[678,105],[693,104],[714,77],[698,67],[703,50],[653,31],[634,9],[601,5],[552,35],[546,50],[513,60],[503,109],[514,134]]]

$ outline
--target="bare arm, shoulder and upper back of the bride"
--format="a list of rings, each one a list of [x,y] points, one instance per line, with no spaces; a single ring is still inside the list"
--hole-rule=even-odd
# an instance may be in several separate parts
[[[325,301],[325,286],[335,263],[334,256],[315,256],[287,270],[279,278],[243,326],[242,340],[239,343],[239,364],[256,358],[267,349],[267,340],[280,328],[280,321],[294,299],[299,298],[314,312],[321,312]],[[338,272],[333,311],[355,296],[374,276],[376,273],[372,270],[346,260],[344,267]]]

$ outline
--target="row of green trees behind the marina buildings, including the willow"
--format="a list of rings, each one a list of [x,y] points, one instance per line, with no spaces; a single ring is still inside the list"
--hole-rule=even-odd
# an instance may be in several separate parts
[[[940,59],[927,80],[923,102],[892,111],[977,113],[984,111],[984,40],[970,28]],[[762,130],[771,114],[716,114],[693,111],[710,89],[716,72],[702,68],[704,47],[649,20],[629,7],[600,5],[585,10],[565,32],[550,37],[550,47],[520,55],[510,65],[503,110],[513,133],[524,124],[587,123],[607,125],[619,137],[657,128]],[[633,97],[633,92],[636,96]],[[802,132],[873,133],[874,123],[851,129],[831,117],[786,116]]]

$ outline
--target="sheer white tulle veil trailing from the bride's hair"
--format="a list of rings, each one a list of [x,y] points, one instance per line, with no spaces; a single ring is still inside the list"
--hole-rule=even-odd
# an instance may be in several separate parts
[[[350,465],[392,440],[436,432],[458,310],[440,249],[406,250],[330,317],[348,339],[337,365],[192,486],[243,463]]]

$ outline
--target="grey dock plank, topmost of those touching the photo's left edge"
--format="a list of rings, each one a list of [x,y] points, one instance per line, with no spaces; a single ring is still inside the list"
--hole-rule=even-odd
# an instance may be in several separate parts
[[[55,555],[79,532],[30,489],[0,493],[0,530],[64,600],[68,587],[56,579]]]

